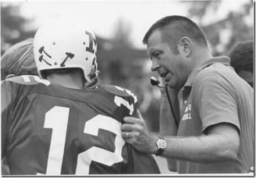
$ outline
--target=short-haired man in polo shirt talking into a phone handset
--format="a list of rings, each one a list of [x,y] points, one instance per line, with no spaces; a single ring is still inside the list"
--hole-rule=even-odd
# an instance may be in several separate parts
[[[182,106],[177,136],[149,133],[145,121],[125,117],[122,137],[140,152],[175,158],[177,171],[245,173],[253,165],[253,89],[213,57],[202,30],[183,16],[158,20],[145,34],[152,60],[169,88],[179,89]]]

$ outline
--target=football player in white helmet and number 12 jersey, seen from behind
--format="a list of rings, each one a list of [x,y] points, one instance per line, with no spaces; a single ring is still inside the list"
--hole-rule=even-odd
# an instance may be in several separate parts
[[[121,137],[123,117],[136,115],[136,95],[95,82],[92,31],[52,20],[37,30],[33,45],[40,77],[1,84],[2,156],[11,174],[159,174],[151,154]]]

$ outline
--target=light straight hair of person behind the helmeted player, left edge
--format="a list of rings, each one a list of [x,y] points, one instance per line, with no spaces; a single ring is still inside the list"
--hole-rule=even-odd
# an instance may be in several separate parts
[[[33,38],[14,44],[1,57],[1,80],[6,76],[38,75],[33,54]]]

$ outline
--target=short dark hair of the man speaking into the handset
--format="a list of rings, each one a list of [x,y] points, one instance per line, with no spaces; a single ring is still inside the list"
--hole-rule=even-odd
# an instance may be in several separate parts
[[[199,45],[208,46],[204,32],[195,22],[184,16],[166,16],[156,21],[145,34],[143,44],[148,43],[149,36],[155,30],[161,30],[165,35],[165,39],[169,40],[170,43],[176,44],[180,38],[187,36]]]

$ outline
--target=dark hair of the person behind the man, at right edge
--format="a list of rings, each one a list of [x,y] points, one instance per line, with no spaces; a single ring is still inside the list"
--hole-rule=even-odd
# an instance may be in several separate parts
[[[237,73],[241,70],[253,72],[253,41],[245,41],[235,45],[228,53],[230,65]]]

